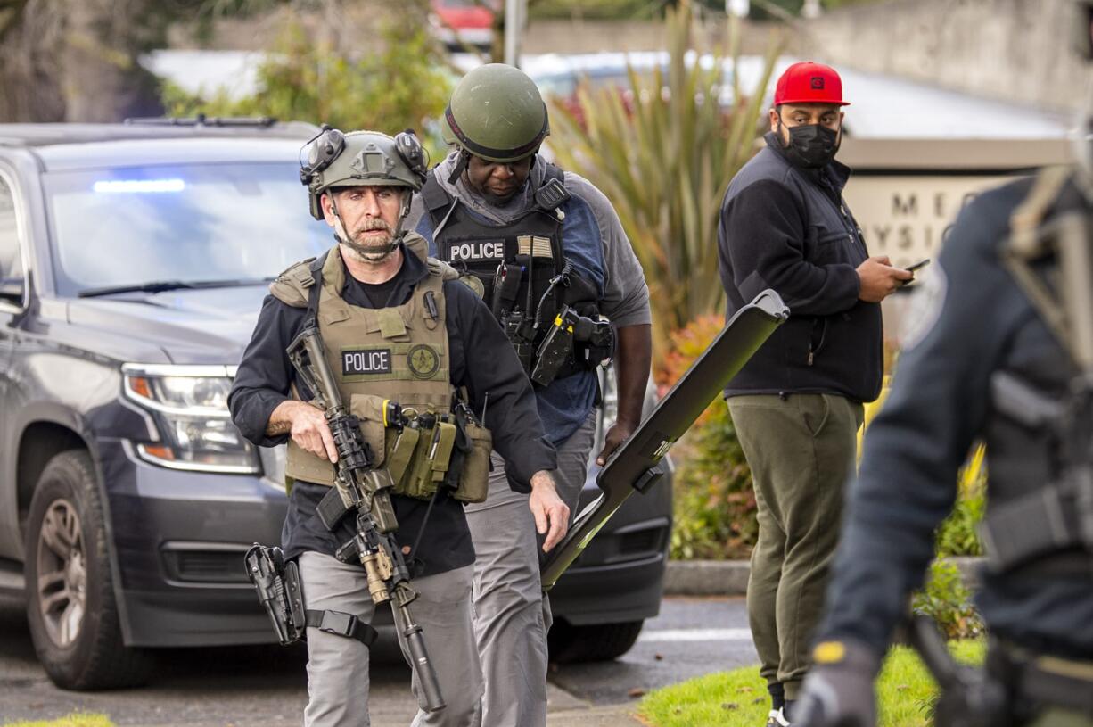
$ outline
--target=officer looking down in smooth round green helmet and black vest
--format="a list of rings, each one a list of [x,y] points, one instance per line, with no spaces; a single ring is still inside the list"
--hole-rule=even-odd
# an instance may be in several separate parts
[[[407,226],[482,292],[534,387],[559,450],[559,492],[575,511],[595,441],[596,370],[609,359],[619,415],[600,464],[640,421],[650,359],[645,277],[603,194],[539,153],[550,121],[522,71],[500,63],[472,70],[453,92],[442,128],[453,150],[414,196]],[[467,511],[478,553],[483,724],[537,727],[546,719],[551,621],[540,543],[527,496],[506,481],[516,462],[498,450],[494,465],[490,497]]]

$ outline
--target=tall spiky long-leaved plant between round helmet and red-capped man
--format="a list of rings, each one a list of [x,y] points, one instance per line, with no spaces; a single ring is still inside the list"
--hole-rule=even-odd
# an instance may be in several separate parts
[[[736,74],[722,78],[720,57],[694,62],[690,2],[667,11],[667,69],[631,69],[624,90],[581,84],[577,112],[551,108],[550,148],[561,165],[599,187],[614,204],[645,269],[653,305],[655,351],[671,331],[721,308],[717,224],[729,180],[751,159],[777,44],[751,97]],[[729,45],[739,47],[739,25]],[[727,56],[733,56],[733,47]],[[729,92],[731,91],[731,95]],[[731,110],[718,103],[734,99]]]

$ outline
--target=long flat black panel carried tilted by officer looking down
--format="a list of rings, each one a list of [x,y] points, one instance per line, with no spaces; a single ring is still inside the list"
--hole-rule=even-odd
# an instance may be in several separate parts
[[[554,586],[627,497],[647,491],[663,476],[660,460],[672,444],[788,317],[789,308],[772,290],[763,291],[737,310],[713,344],[600,470],[596,484],[602,493],[577,515],[569,532],[543,561],[543,590]]]

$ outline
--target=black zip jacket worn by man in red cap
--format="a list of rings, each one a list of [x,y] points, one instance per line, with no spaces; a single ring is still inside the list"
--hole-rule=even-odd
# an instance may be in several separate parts
[[[843,200],[850,169],[801,169],[772,132],[732,179],[717,230],[726,315],[771,288],[790,317],[729,382],[725,396],[837,394],[872,401],[883,370],[880,304],[858,300],[869,256]]]

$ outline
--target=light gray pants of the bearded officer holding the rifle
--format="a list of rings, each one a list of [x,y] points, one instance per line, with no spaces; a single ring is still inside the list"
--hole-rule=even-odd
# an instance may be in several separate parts
[[[422,628],[447,704],[433,714],[419,710],[413,727],[481,724],[482,670],[471,629],[471,576],[472,566],[468,565],[413,581],[420,595],[410,608]],[[299,578],[308,609],[343,611],[372,622],[375,605],[361,566],[308,552],[299,556]],[[401,634],[399,644],[406,654]],[[420,702],[416,677],[413,691]],[[305,727],[368,727],[368,647],[309,628],[307,696]]]

